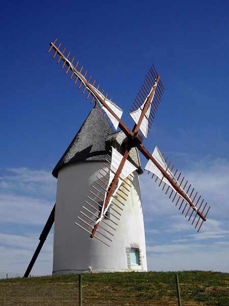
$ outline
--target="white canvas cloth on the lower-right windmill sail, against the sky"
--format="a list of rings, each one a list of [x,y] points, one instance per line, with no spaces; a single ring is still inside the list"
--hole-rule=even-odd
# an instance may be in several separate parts
[[[165,162],[165,160],[163,159],[163,156],[160,152],[160,150],[158,149],[158,147],[156,146],[152,157],[158,162],[158,164],[169,174],[169,176],[171,177],[171,179],[174,181],[174,183],[179,186],[179,183],[176,179],[176,177],[174,176],[173,172],[171,172],[168,167],[167,164]],[[162,182],[164,182],[166,185],[168,185],[169,187],[171,187],[175,192],[176,189],[174,189],[174,187],[169,183],[169,181],[166,179],[166,177],[164,177],[163,173],[158,169],[158,167],[151,161],[149,160],[148,163],[146,164],[145,170],[150,171],[151,173],[153,173],[154,175],[156,175],[158,177],[158,179],[162,180]],[[188,194],[180,187],[180,189],[187,195],[187,197],[190,199],[190,197],[188,196]],[[185,201],[186,199],[179,194],[180,197],[182,197]],[[191,201],[191,199],[190,199]],[[193,204],[193,209],[195,211],[197,211],[197,208],[195,207],[195,205]]]

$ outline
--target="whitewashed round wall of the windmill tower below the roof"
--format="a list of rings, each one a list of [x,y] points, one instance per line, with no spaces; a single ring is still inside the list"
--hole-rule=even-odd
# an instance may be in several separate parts
[[[79,210],[89,194],[96,173],[102,167],[99,162],[84,162],[62,168],[58,175],[56,194],[53,274],[69,274],[93,271],[126,271],[126,248],[139,247],[141,266],[132,269],[147,270],[144,221],[140,202],[137,173],[119,225],[107,247],[74,224]]]

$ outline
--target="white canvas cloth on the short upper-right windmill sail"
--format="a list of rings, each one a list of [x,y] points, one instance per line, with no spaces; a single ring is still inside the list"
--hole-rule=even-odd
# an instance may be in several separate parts
[[[141,113],[142,113],[142,110],[143,110],[143,108],[144,108],[144,105],[145,105],[146,102],[147,102],[147,99],[148,99],[149,96],[151,95],[153,89],[155,88],[155,90],[156,90],[156,87],[157,87],[157,83],[155,82],[154,86],[151,88],[150,93],[149,93],[148,96],[146,97],[146,100],[144,101],[144,104],[142,104],[141,107],[139,107],[136,111],[129,113],[130,116],[132,117],[132,119],[134,120],[134,122],[135,122],[136,124],[137,124],[137,122],[139,121],[140,115],[141,115]],[[154,91],[154,94],[155,94],[155,91]],[[144,118],[142,119],[141,124],[140,124],[140,127],[139,127],[139,130],[141,131],[142,135],[143,135],[145,138],[147,138],[147,135],[148,135],[149,116],[150,116],[151,103],[152,103],[152,101],[153,101],[154,94],[153,94],[152,99],[151,99],[151,101],[150,101],[148,110],[146,111],[146,114],[145,114]]]

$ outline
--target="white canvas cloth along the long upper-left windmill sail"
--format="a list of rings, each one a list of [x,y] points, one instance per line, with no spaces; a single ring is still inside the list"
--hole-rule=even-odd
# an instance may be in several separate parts
[[[97,96],[95,95],[94,92],[96,92],[99,97],[106,103],[106,105],[119,117],[119,119],[121,119],[122,114],[123,114],[123,110],[118,107],[115,103],[113,103],[112,101],[110,101],[109,99],[107,99],[97,88],[95,88],[92,84],[90,84],[90,86],[87,86],[88,81],[83,77],[83,75],[74,69],[72,63],[65,58],[65,61],[69,64],[72,72],[77,75],[77,77],[79,78],[79,80],[83,83],[83,85],[91,92],[91,94],[95,97],[95,99],[98,101],[98,103],[100,104],[100,106],[102,106],[102,104],[100,103],[100,101],[98,100]],[[110,121],[112,122],[113,126],[115,127],[115,129],[118,129],[119,126],[119,120],[117,120],[104,106],[102,106],[102,109],[104,110],[104,112],[107,114],[107,116],[109,117]]]

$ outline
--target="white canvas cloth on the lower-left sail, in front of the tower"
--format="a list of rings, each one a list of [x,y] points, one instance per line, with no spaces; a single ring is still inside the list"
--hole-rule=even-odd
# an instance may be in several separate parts
[[[108,191],[108,188],[111,184],[111,182],[113,181],[113,178],[115,177],[115,173],[117,172],[118,168],[119,168],[119,165],[122,161],[122,154],[120,154],[117,149],[115,149],[114,147],[112,147],[112,154],[111,154],[111,165],[110,165],[110,172],[109,172],[109,181],[108,181],[108,185],[107,185],[107,191]],[[119,179],[118,179],[118,184],[117,184],[117,187],[115,189],[115,191],[113,191],[112,193],[112,196],[110,197],[109,201],[108,201],[108,204],[106,206],[106,208],[104,209],[104,206],[105,206],[105,200],[106,200],[106,195],[107,195],[107,191],[105,193],[105,197],[104,197],[104,201],[103,201],[103,206],[102,206],[102,213],[101,213],[101,217],[95,222],[96,224],[99,223],[102,218],[105,216],[110,204],[111,204],[111,201],[113,199],[113,196],[116,195],[117,191],[119,190],[123,180],[125,180],[127,178],[128,175],[130,175],[133,171],[137,170],[137,168],[131,163],[129,162],[128,160],[125,161],[125,164],[123,166],[123,169],[119,175]],[[115,173],[113,173],[115,172]]]

